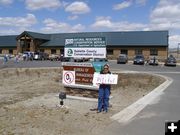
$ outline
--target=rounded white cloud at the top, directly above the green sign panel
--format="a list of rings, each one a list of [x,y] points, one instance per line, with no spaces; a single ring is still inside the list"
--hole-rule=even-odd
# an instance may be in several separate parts
[[[90,12],[90,8],[88,7],[88,5],[84,2],[73,2],[71,4],[69,4],[66,8],[65,8],[66,12],[71,12],[72,14],[86,14],[88,12]]]

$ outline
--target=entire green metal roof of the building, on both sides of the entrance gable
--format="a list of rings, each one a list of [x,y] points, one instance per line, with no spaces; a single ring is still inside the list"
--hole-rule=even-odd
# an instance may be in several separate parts
[[[41,47],[63,47],[66,38],[80,37],[105,37],[107,46],[164,46],[168,47],[168,31],[125,31],[125,32],[81,32],[41,34],[25,31],[16,36],[0,36],[0,46],[16,46],[16,39],[23,34],[28,34],[34,39],[44,39],[47,42]],[[6,38],[5,38],[6,37]]]

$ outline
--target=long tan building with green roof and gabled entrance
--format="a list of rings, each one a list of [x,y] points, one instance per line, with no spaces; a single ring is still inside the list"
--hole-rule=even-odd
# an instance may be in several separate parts
[[[168,31],[82,32],[42,34],[24,31],[20,35],[0,36],[0,54],[17,54],[24,51],[42,51],[48,54],[64,53],[66,38],[105,37],[107,57],[116,59],[136,54],[165,59],[168,55]]]

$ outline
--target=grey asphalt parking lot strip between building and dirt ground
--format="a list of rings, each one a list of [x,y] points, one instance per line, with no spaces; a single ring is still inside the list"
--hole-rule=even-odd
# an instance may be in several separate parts
[[[112,70],[127,70],[127,71],[139,71],[139,72],[180,72],[179,63],[177,66],[164,66],[164,63],[159,63],[158,66],[152,65],[134,65],[132,61],[127,64],[117,64],[116,60],[108,61]],[[38,67],[61,67],[60,61],[20,61],[15,63],[13,59],[9,60],[6,64],[3,64],[3,59],[0,59],[0,69],[3,68],[38,68]]]

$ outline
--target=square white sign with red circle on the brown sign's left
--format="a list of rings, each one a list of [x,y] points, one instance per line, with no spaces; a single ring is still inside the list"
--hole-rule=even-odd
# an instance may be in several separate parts
[[[65,85],[75,84],[75,71],[63,70],[63,84]]]

